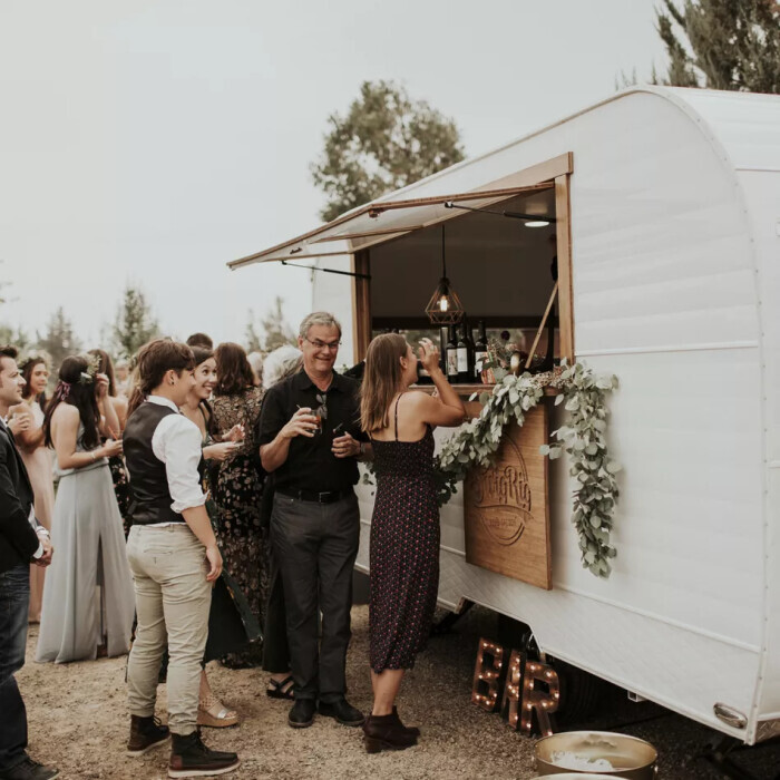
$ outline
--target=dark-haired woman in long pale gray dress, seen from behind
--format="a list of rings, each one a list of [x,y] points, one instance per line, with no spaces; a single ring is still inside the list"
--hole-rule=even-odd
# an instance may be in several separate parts
[[[36,661],[64,663],[126,653],[135,598],[108,468],[108,458],[121,452],[108,380],[80,357],[66,358],[59,380],[43,422],[59,475],[51,523],[57,564],[47,575]]]

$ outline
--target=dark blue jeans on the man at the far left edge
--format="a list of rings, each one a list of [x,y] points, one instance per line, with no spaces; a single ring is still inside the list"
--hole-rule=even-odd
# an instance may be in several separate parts
[[[0,574],[0,771],[27,757],[27,710],[13,674],[25,665],[30,564]]]

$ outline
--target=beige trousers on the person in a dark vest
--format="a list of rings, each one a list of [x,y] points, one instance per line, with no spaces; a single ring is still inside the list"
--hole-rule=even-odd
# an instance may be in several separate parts
[[[127,539],[138,627],[127,664],[130,713],[153,715],[167,645],[168,728],[189,734],[197,722],[201,662],[208,637],[212,586],[205,549],[185,524],[133,526]]]

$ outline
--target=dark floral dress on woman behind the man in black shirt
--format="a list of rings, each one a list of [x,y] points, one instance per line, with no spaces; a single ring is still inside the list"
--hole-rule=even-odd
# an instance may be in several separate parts
[[[220,436],[235,425],[243,425],[246,438],[230,458],[220,464],[214,488],[217,506],[217,540],[225,568],[246,595],[260,625],[265,621],[269,593],[269,544],[261,521],[260,505],[264,475],[257,457],[257,421],[263,402],[261,388],[247,388],[234,396],[212,400],[214,423]],[[231,653],[227,665],[260,665],[262,646],[253,645],[242,653]]]

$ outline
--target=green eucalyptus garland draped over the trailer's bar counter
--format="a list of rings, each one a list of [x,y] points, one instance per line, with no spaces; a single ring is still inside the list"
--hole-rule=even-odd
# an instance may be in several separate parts
[[[538,404],[547,386],[560,391],[555,403],[565,403],[568,425],[552,432],[550,439],[556,443],[543,445],[540,454],[550,460],[564,451],[569,456],[569,475],[577,482],[572,523],[579,537],[583,567],[596,576],[608,577],[610,558],[616,555],[610,532],[620,494],[615,475],[621,470],[620,464],[608,456],[605,438],[606,394],[617,388],[614,376],[596,376],[583,363],[571,367],[564,363],[556,371],[542,374],[501,376],[491,393],[479,396],[482,403],[479,417],[460,426],[436,457],[439,506],[457,493],[457,484],[471,468],[490,466],[501,443],[504,427],[510,422],[523,426],[525,416]],[[368,474],[363,475],[363,481],[371,482]]]

